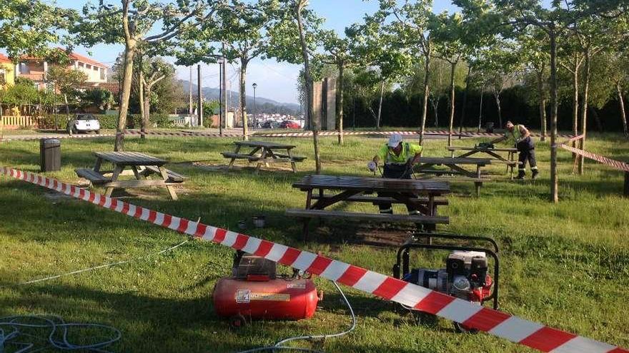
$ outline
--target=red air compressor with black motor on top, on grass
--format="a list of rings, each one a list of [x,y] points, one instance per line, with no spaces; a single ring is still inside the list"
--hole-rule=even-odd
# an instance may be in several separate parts
[[[219,280],[212,297],[217,315],[228,317],[232,327],[251,319],[307,319],[319,302],[312,280],[296,270],[292,276],[277,276],[275,262],[240,251],[234,255],[232,277]]]

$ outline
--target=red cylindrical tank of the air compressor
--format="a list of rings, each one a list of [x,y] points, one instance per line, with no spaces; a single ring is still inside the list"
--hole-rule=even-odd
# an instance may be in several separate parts
[[[317,289],[312,280],[266,281],[223,278],[214,287],[214,310],[219,317],[242,315],[251,319],[299,320],[317,309]]]

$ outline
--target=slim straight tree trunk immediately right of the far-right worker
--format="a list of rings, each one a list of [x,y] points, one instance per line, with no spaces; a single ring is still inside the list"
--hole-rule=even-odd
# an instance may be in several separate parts
[[[550,26],[550,201],[559,202],[559,180],[557,175],[557,34]]]

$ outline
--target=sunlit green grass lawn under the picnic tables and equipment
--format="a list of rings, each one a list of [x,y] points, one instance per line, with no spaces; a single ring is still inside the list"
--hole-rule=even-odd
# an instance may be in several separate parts
[[[341,148],[335,140],[322,138],[324,172],[364,176],[370,175],[367,160],[385,141],[348,137]],[[189,180],[177,202],[165,190],[151,189],[142,190],[142,196],[132,192],[125,200],[232,230],[239,220],[266,215],[267,227],[244,232],[390,274],[397,249],[356,245],[355,225],[326,222],[311,231],[312,242],[303,244],[301,224],[284,217],[284,210],[304,205],[303,193],[291,184],[314,170],[312,143],[309,138],[278,141],[294,143],[297,153],[308,157],[297,175],[287,170],[255,174],[249,168],[226,173],[192,165],[224,165],[219,152],[232,150],[229,139],[127,138],[127,150],[166,158],[168,168]],[[425,155],[445,156],[444,147],[445,140],[427,140]],[[111,138],[63,140],[63,169],[49,175],[76,183],[74,168],[91,167],[92,151],[111,149]],[[588,150],[622,160],[629,144],[620,135],[594,135]],[[552,205],[549,154],[548,144],[538,143],[541,175],[535,182],[509,180],[503,167],[494,167],[495,181],[482,188],[480,198],[472,196],[473,185],[452,185],[450,205],[440,210],[450,216],[450,225],[440,229],[499,242],[500,307],[505,312],[628,347],[629,199],[621,197],[623,174],[588,162],[585,175],[571,175],[571,155],[561,151],[561,202]],[[0,143],[0,165],[38,171],[39,141]],[[123,334],[114,351],[151,353],[236,352],[294,335],[340,332],[350,324],[334,287],[316,279],[326,295],[312,319],[229,329],[214,314],[211,294],[217,279],[229,274],[232,252],[207,242],[188,242],[127,265],[19,285],[142,257],[181,242],[182,236],[10,178],[0,177],[0,200],[0,316],[56,314],[73,322],[111,324]],[[351,208],[375,212],[369,204]],[[413,260],[438,267],[444,255]],[[322,344],[327,352],[531,352],[487,334],[456,334],[445,320],[437,327],[417,325],[392,303],[345,291],[358,327]]]

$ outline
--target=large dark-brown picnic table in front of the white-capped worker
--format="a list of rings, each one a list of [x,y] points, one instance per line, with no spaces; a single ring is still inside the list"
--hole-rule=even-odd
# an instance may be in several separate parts
[[[292,186],[306,192],[306,207],[305,209],[289,209],[286,211],[286,214],[304,219],[305,240],[308,237],[310,218],[412,222],[428,225],[432,229],[437,224],[447,224],[449,222],[449,218],[437,216],[437,206],[447,205],[447,200],[437,199],[437,197],[450,193],[450,185],[446,182],[308,175]],[[317,193],[315,193],[315,190],[317,190]],[[373,195],[374,193],[385,193],[387,197],[375,196]],[[325,208],[329,208],[332,205],[344,202],[372,203],[374,205],[400,203],[419,210],[421,214],[392,215],[325,210]]]

